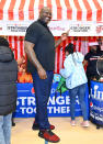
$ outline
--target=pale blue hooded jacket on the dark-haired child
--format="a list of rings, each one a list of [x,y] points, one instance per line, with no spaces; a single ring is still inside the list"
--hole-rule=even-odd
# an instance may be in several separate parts
[[[82,65],[83,58],[84,56],[77,52],[68,55],[65,59],[65,68],[60,69],[60,75],[66,78],[66,86],[68,89],[87,84],[88,80]]]

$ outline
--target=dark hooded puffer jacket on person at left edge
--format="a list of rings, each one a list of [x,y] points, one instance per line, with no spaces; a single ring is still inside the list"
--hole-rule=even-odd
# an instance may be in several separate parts
[[[18,64],[12,51],[0,46],[0,115],[9,114],[16,108]]]

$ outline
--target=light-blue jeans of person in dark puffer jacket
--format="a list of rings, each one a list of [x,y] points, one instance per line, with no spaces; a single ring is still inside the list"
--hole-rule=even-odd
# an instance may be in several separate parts
[[[11,118],[12,113],[0,115],[0,144],[11,143]]]

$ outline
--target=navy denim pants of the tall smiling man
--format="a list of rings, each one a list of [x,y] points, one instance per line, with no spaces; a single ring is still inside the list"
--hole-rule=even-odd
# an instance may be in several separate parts
[[[41,130],[49,129],[47,102],[50,95],[54,71],[46,71],[46,79],[41,79],[37,73],[32,74],[36,99],[35,122],[39,124]]]

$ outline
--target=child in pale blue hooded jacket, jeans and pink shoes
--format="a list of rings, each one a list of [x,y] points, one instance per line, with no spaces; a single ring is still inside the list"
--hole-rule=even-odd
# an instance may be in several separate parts
[[[71,125],[76,125],[75,102],[76,96],[78,96],[83,117],[81,125],[89,126],[88,112],[84,101],[85,85],[88,80],[82,65],[83,55],[79,52],[75,52],[73,47],[75,47],[73,44],[70,43],[65,48],[66,53],[66,59],[64,62],[65,68],[60,69],[60,75],[66,78],[66,86],[69,89]]]

